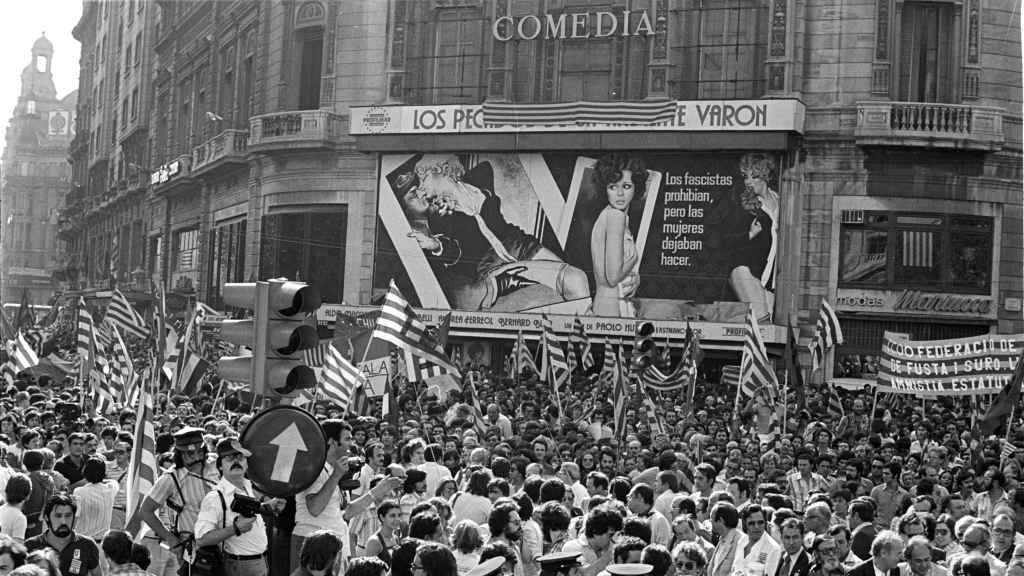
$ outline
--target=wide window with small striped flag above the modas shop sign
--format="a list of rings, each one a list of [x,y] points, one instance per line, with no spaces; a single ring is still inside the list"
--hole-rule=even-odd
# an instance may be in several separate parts
[[[992,218],[848,210],[843,220],[840,286],[991,291]]]

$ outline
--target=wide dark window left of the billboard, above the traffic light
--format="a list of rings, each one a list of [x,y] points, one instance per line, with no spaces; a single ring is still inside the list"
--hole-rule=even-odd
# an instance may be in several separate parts
[[[348,210],[330,208],[263,216],[259,277],[315,284],[325,302],[341,302]]]

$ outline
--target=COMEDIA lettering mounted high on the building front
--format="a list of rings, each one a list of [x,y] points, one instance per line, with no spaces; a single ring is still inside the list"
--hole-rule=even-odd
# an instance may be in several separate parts
[[[496,40],[572,40],[610,36],[653,36],[646,10],[572,12],[499,16],[490,26]]]

